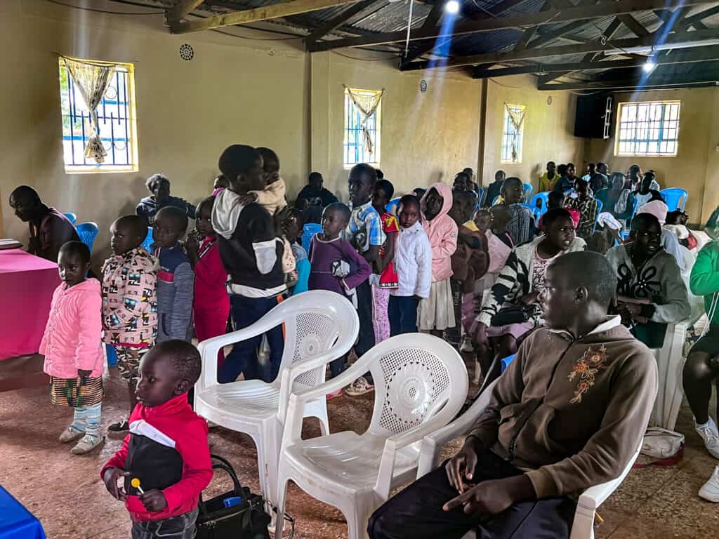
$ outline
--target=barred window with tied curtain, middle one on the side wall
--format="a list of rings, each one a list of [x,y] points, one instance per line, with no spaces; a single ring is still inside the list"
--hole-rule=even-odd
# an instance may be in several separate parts
[[[377,96],[380,91],[355,90],[352,93],[356,96]],[[373,167],[380,166],[380,109],[367,119],[367,132],[372,141],[372,152],[370,153],[365,143],[365,134],[362,130],[362,113],[349,97],[349,92],[344,91],[344,167],[351,168],[358,163],[367,163]]]

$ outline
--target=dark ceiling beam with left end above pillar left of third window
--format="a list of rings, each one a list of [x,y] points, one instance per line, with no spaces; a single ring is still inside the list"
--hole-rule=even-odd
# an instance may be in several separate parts
[[[682,64],[711,62],[719,60],[719,46],[697,47],[695,49],[684,49],[672,52],[671,55],[656,58],[657,65]],[[473,78],[504,77],[507,75],[521,75],[528,73],[557,73],[585,70],[606,70],[639,68],[646,62],[645,57],[630,58],[628,60],[590,60],[574,63],[551,63],[521,65],[514,68],[475,69]],[[544,86],[544,85],[540,85]]]

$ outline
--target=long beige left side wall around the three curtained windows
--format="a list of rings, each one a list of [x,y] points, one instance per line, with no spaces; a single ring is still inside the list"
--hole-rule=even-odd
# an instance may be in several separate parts
[[[75,2],[75,0],[68,0]],[[98,0],[93,7],[147,11]],[[156,11],[156,10],[155,10]],[[174,36],[162,15],[122,16],[78,11],[44,0],[0,1],[0,45],[6,76],[0,81],[4,129],[0,201],[4,235],[27,239],[27,229],[6,206],[9,192],[27,183],[61,211],[96,221],[101,233],[94,264],[108,254],[108,229],[132,213],[146,195],[144,181],[164,172],[175,195],[197,202],[211,191],[217,159],[232,143],[268,146],[280,155],[293,198],[308,172],[347,200],[342,162],[344,91],[385,88],[380,167],[398,193],[437,180],[451,182],[464,167],[478,170],[482,85],[462,73],[400,73],[396,60],[359,50],[308,55],[301,40],[251,29]],[[280,40],[268,40],[279,38]],[[189,43],[186,62],[179,47]],[[139,171],[65,174],[58,85],[58,53],[135,65]],[[422,78],[428,90],[421,93]],[[544,161],[575,157],[582,142],[571,136],[574,100],[533,90],[530,78],[490,82],[485,126],[485,183],[498,168],[503,101],[528,106],[522,165],[505,167],[528,180]],[[504,167],[504,165],[502,165]]]

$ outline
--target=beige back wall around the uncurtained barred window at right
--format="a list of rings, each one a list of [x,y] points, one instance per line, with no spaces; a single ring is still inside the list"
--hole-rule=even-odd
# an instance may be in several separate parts
[[[592,139],[587,160],[603,161],[611,170],[626,171],[637,163],[654,169],[662,188],[689,191],[686,211],[692,223],[702,224],[719,204],[719,88],[692,88],[615,94],[617,104],[626,101],[682,102],[679,112],[679,147],[675,157],[615,157],[615,132],[608,140]],[[614,122],[615,123],[615,122]]]

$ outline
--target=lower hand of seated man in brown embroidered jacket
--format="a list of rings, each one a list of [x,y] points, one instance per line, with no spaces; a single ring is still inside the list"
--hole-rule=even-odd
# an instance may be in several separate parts
[[[442,509],[452,511],[464,507],[465,515],[497,515],[517,502],[535,497],[531,481],[525,474],[521,474],[506,479],[481,482],[464,494],[450,499]]]

